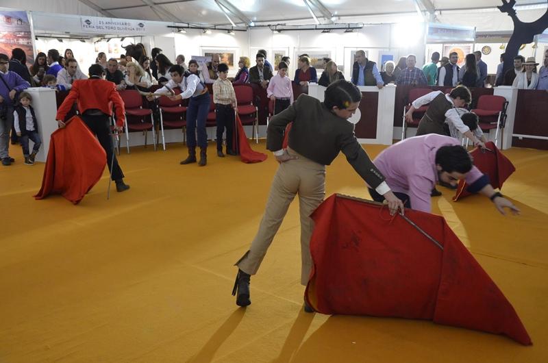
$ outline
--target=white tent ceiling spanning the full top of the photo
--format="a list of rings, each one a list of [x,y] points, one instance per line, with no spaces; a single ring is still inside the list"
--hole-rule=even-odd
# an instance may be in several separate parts
[[[36,12],[134,18],[199,25],[229,25],[218,3],[236,25],[314,24],[306,2],[321,23],[398,23],[418,18],[477,27],[478,31],[512,30],[512,20],[497,10],[501,0],[2,0],[7,8]],[[316,5],[314,5],[316,4]],[[522,21],[535,21],[547,10],[547,0],[516,0]],[[319,8],[323,8],[321,12]]]

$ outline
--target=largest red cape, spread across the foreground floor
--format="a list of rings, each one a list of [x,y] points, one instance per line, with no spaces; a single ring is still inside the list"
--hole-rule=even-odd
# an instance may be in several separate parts
[[[305,299],[323,314],[394,316],[531,338],[514,308],[445,219],[332,195],[312,214],[313,267]]]

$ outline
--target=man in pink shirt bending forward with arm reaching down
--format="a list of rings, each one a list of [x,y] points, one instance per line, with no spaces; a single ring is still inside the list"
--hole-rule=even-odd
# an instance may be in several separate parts
[[[430,192],[438,181],[456,185],[460,179],[465,179],[469,192],[488,197],[501,214],[506,214],[504,208],[519,214],[511,201],[495,192],[487,175],[473,166],[468,151],[450,136],[427,134],[407,138],[384,149],[373,163],[408,208],[431,212]],[[375,201],[384,199],[371,188],[369,194]]]

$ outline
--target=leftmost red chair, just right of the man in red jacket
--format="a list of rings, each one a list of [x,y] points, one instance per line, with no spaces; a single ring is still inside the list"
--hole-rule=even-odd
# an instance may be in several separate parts
[[[127,153],[129,153],[129,130],[141,131],[145,133],[145,147],[147,147],[147,135],[149,129],[152,130],[152,140],[154,150],[156,150],[156,138],[154,131],[154,118],[152,117],[152,110],[149,108],[142,108],[142,96],[137,90],[122,90],[120,91],[120,97],[124,101],[125,108],[125,142],[127,145]],[[138,122],[129,122],[129,116],[139,118]],[[150,116],[150,121],[145,121],[145,117]]]

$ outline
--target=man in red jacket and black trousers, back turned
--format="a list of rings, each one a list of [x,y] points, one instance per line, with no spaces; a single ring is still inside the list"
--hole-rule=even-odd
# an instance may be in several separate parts
[[[116,155],[114,155],[110,116],[112,116],[112,104],[114,103],[116,131],[121,132],[125,121],[124,103],[116,90],[116,85],[103,79],[105,70],[101,65],[92,64],[89,68],[89,74],[89,79],[78,79],[73,83],[71,92],[64,99],[55,118],[59,127],[65,127],[64,117],[77,101],[82,120],[84,120],[90,131],[97,135],[99,143],[105,149],[110,175],[112,180],[116,182],[116,191],[123,192],[129,189],[129,185],[123,182],[124,175],[118,160],[116,160]]]

